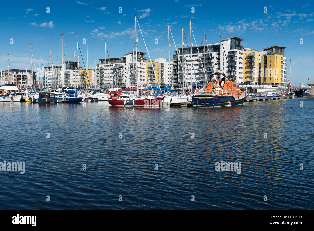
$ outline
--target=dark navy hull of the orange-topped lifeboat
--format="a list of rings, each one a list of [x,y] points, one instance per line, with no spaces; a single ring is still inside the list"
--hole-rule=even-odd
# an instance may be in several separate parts
[[[193,95],[192,104],[198,107],[230,107],[240,106],[246,99],[247,94],[243,97],[235,99],[232,95],[212,95],[198,94]]]

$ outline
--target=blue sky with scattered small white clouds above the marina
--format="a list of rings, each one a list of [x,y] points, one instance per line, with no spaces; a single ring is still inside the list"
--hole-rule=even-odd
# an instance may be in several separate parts
[[[246,47],[258,51],[272,45],[286,46],[288,78],[292,58],[293,82],[296,79],[298,82],[314,79],[311,71],[314,64],[314,3],[310,1],[6,1],[2,7],[0,69],[3,65],[7,69],[8,53],[11,68],[24,69],[27,66],[30,69],[30,43],[36,66],[40,56],[43,65],[48,64],[50,49],[55,63],[61,34],[66,46],[64,54],[69,56],[69,60],[73,60],[73,52],[76,51],[76,34],[85,65],[83,38],[89,38],[89,66],[94,65],[95,58],[97,62],[104,58],[105,41],[110,57],[122,57],[125,52],[132,51],[135,13],[151,59],[157,58],[157,52],[160,58],[168,58],[166,25],[171,24],[176,45],[181,47],[181,28],[185,27],[185,36],[189,40],[191,19],[197,45],[203,41],[204,33],[208,43],[218,42],[220,26],[222,38],[240,37]],[[47,7],[50,13],[46,13]],[[122,7],[122,13],[119,13],[119,7]],[[195,8],[194,13],[191,12],[192,7]],[[267,13],[264,13],[264,7],[267,7]],[[155,44],[156,38],[158,44]],[[10,44],[10,39],[13,39],[13,44]],[[300,44],[300,39],[303,39],[303,44]],[[140,51],[146,52],[141,37],[138,46]],[[171,52],[174,50],[171,41]],[[58,61],[61,61],[60,56]]]

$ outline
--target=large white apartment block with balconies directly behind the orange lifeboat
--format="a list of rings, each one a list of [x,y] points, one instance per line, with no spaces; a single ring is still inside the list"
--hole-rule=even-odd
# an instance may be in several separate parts
[[[173,80],[176,81],[177,85],[180,85],[182,76],[184,76],[184,81],[189,85],[192,84],[194,87],[198,85],[206,87],[209,76],[218,71],[224,73],[229,79],[236,82],[243,82],[244,48],[241,46],[241,41],[243,41],[243,39],[236,36],[225,38],[221,40],[221,51],[220,44],[213,43],[205,46],[205,53],[204,46],[193,46],[192,54],[190,47],[184,48],[183,73],[181,67],[182,48],[178,48],[179,51],[175,51],[176,54],[173,55]],[[222,54],[221,60],[220,52]],[[204,79],[204,73],[206,73],[207,81]],[[218,78],[222,77],[223,76],[218,76]],[[217,76],[214,76],[214,78],[217,78]]]

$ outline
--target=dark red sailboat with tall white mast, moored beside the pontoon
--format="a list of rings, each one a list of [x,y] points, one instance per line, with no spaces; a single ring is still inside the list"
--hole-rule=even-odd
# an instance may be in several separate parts
[[[112,91],[110,92],[110,98],[108,100],[109,104],[113,106],[132,106],[132,107],[159,107],[164,97],[160,96],[150,96],[150,95],[140,95],[139,85],[138,85],[138,39],[137,39],[137,17],[134,16],[135,21],[135,70],[136,70],[136,95],[132,93],[126,93],[124,91]],[[139,24],[138,24],[139,27]],[[139,27],[141,31],[141,28]],[[142,31],[141,31],[142,34]],[[143,37],[143,34],[142,34]],[[144,38],[143,38],[144,40]],[[145,41],[144,41],[145,43]],[[145,45],[146,46],[146,45]],[[149,52],[147,51],[148,56]],[[150,59],[150,56],[149,56]],[[150,60],[151,61],[151,60]]]

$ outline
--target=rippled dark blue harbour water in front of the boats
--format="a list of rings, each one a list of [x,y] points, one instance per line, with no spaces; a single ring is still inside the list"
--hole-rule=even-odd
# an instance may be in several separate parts
[[[0,162],[25,162],[24,174],[0,172],[0,208],[310,209],[313,122],[314,97],[170,110],[0,103]],[[215,171],[220,161],[241,162],[241,174]]]

